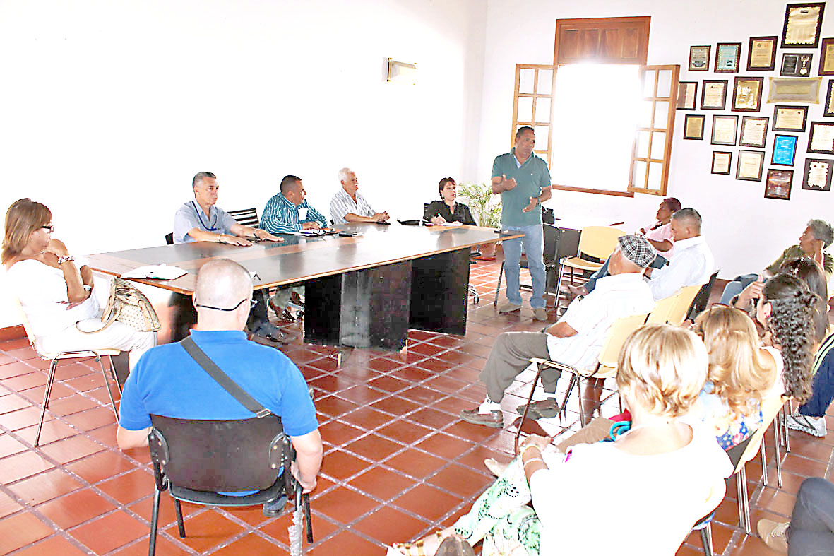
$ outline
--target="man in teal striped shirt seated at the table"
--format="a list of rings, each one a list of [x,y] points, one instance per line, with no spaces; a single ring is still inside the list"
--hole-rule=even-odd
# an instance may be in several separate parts
[[[281,191],[272,196],[261,215],[261,230],[270,234],[289,234],[299,230],[327,228],[327,219],[307,204],[304,185],[297,175],[281,180]]]

